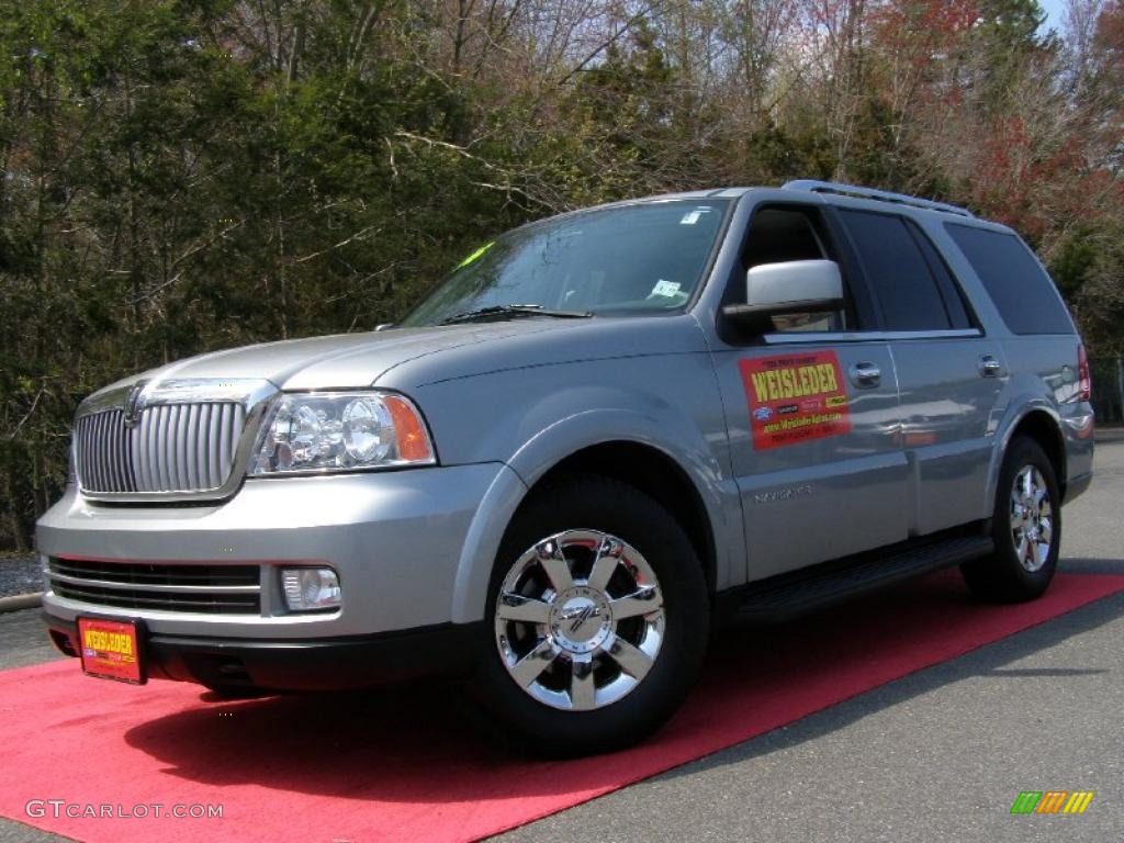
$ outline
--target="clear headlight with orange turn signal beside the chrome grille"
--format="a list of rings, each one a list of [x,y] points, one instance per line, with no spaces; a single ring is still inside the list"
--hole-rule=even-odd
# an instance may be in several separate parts
[[[417,407],[392,392],[282,396],[270,410],[251,474],[433,465]]]

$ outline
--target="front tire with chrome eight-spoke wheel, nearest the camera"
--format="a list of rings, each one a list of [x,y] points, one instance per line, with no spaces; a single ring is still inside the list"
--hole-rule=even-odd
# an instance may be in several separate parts
[[[535,493],[505,535],[473,683],[501,735],[540,755],[628,746],[681,705],[706,651],[703,569],[640,490],[574,477]]]

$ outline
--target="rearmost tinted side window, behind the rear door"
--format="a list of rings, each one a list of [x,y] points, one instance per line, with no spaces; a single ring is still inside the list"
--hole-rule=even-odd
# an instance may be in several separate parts
[[[1018,237],[945,223],[1013,334],[1072,334],[1053,282]]]

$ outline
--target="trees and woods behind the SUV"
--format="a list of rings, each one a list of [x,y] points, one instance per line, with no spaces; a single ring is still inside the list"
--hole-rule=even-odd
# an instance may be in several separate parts
[[[81,398],[393,321],[497,233],[831,179],[1015,226],[1124,351],[1124,6],[0,0],[0,549]]]

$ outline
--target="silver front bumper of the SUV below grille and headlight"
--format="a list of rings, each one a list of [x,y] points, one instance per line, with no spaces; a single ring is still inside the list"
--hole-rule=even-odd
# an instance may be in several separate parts
[[[506,475],[514,477],[507,466],[486,463],[247,480],[228,501],[203,506],[97,505],[71,487],[39,520],[36,538],[44,556],[253,564],[261,571],[261,610],[111,608],[51,590],[44,609],[53,622],[66,624],[82,615],[139,618],[170,652],[172,638],[274,643],[272,650],[265,647],[270,655],[260,660],[263,663],[308,655],[315,651],[309,642],[326,638],[338,642],[473,622],[482,617],[482,605],[469,617],[456,617],[453,609],[459,565],[478,510],[487,516],[481,501],[495,484],[509,480]],[[277,569],[293,563],[335,569],[342,587],[339,609],[289,613]]]

